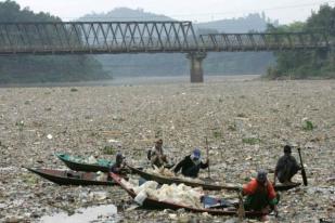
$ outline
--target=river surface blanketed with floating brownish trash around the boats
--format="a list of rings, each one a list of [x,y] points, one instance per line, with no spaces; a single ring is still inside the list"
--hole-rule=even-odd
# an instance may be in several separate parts
[[[278,221],[334,219],[335,80],[206,77],[199,84],[70,89],[0,88],[0,221],[35,223],[113,204],[125,222],[233,222],[182,209],[136,209],[118,186],[60,186],[21,168],[65,168],[55,153],[114,161],[118,150],[129,165],[145,168],[156,139],[173,163],[195,147],[206,160],[206,137],[210,170],[199,176],[220,185],[241,185],[260,168],[273,170],[285,144],[299,146],[308,186],[281,193]],[[296,147],[292,155],[299,161]],[[302,182],[301,174],[293,181]]]

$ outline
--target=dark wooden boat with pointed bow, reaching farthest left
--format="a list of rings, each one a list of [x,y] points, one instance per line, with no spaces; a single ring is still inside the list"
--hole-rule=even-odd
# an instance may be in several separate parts
[[[94,172],[81,172],[72,170],[54,170],[43,168],[26,168],[53,183],[60,185],[115,185],[112,179],[107,179],[108,174],[98,174]]]

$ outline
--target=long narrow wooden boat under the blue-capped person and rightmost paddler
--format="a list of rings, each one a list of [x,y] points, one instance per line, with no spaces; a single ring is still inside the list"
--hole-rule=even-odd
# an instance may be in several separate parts
[[[139,168],[134,168],[131,166],[128,166],[128,168],[130,169],[130,171],[132,173],[139,174],[141,178],[145,179],[146,181],[156,181],[159,184],[185,184],[188,186],[192,186],[192,187],[203,187],[203,189],[207,189],[207,191],[221,191],[221,189],[227,189],[227,191],[239,191],[241,187],[240,186],[230,186],[230,185],[216,185],[216,184],[210,184],[209,182],[204,182],[204,183],[198,183],[198,182],[192,182],[192,181],[186,181],[186,180],[182,180],[179,178],[168,178],[168,176],[163,176],[163,175],[156,175],[156,174],[151,174],[147,173]],[[284,185],[284,184],[276,184],[274,186],[274,189],[278,192],[281,191],[287,191],[291,188],[294,188],[296,186],[299,186],[300,183],[293,183],[293,184],[288,184],[288,185]]]

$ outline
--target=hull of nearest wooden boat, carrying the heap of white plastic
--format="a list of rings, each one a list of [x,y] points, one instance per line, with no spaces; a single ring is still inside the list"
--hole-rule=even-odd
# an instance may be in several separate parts
[[[136,198],[137,194],[133,192],[132,188],[127,187],[123,182],[121,178],[115,173],[109,173],[112,179],[121,187],[124,188],[132,198]],[[204,204],[205,200],[210,200],[210,206],[206,206]],[[146,209],[171,209],[171,210],[178,210],[178,209],[184,209],[191,212],[207,212],[209,214],[214,215],[237,215],[237,205],[232,204],[229,205],[229,201],[222,202],[222,199],[216,199],[210,198],[208,196],[204,197],[202,199],[202,202],[204,204],[204,208],[194,208],[189,207],[184,205],[179,205],[170,201],[159,201],[157,199],[153,199],[150,197],[146,197],[142,204],[142,208]],[[222,205],[223,204],[223,205]],[[255,211],[245,211],[246,217],[260,217],[265,213],[261,212],[255,212]]]

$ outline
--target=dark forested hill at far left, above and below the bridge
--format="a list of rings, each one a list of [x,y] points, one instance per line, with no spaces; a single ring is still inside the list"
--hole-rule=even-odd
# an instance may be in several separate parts
[[[48,13],[35,14],[14,1],[0,2],[0,23],[57,22]],[[0,30],[1,31],[1,30]],[[0,56],[0,84],[82,81],[111,78],[101,64],[86,55]]]

